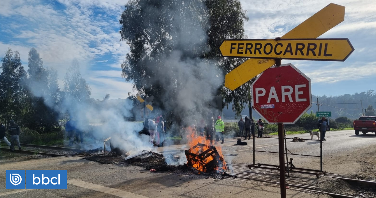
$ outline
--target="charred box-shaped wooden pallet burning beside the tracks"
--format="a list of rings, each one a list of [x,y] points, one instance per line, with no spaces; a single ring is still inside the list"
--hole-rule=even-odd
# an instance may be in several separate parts
[[[202,172],[209,172],[218,169],[227,169],[223,156],[215,146],[197,143],[192,148],[185,150],[187,165]]]

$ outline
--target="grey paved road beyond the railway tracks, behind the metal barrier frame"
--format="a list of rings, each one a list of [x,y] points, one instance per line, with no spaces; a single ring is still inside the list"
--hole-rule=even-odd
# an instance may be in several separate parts
[[[287,138],[295,136],[311,139],[309,133],[287,135]],[[277,137],[277,136],[275,136]],[[317,137],[316,137],[317,138]],[[326,132],[327,141],[323,141],[323,170],[337,174],[356,174],[359,154],[367,151],[375,156],[376,136],[374,133],[355,135],[354,130],[340,130]],[[244,140],[242,140],[244,141]],[[235,145],[237,138],[226,138],[224,144],[215,144],[222,147],[223,154],[238,154],[238,156],[224,156],[226,162],[253,163],[253,139],[245,140],[248,145]],[[261,151],[278,152],[278,139],[255,138],[255,148]],[[287,148],[294,154],[306,154],[320,156],[320,141],[291,142],[287,139]],[[174,145],[159,148],[164,150],[185,150],[185,145]],[[183,153],[180,155],[184,156]],[[290,155],[293,163],[299,168],[320,169],[320,157],[306,157]],[[278,154],[256,152],[255,163],[267,163],[278,165]],[[338,168],[347,166],[346,168]]]

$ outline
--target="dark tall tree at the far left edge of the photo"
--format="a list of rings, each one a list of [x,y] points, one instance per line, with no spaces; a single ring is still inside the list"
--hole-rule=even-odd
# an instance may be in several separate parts
[[[20,53],[12,52],[8,48],[5,56],[1,59],[2,72],[0,74],[0,114],[9,121],[14,119],[22,124],[25,114],[26,92],[24,89],[25,70],[21,64]]]

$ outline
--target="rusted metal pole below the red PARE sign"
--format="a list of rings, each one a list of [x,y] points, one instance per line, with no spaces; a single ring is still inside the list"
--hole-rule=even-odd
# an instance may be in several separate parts
[[[279,150],[279,178],[281,198],[286,198],[286,178],[285,178],[285,150],[284,150],[284,126],[278,123],[278,150]]]

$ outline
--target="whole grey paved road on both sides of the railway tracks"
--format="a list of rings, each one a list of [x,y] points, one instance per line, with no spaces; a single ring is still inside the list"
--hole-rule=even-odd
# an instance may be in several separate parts
[[[368,152],[375,157],[375,135],[353,135],[351,130],[327,133],[327,141],[323,142],[324,169],[330,172],[356,172],[351,165],[358,165],[360,157],[357,153]],[[288,137],[293,137],[289,135]],[[310,138],[309,134],[299,135]],[[223,146],[224,154],[238,156],[225,156],[227,162],[252,162],[252,140],[247,140],[249,145],[234,145],[236,138],[227,138]],[[256,138],[256,149],[277,150],[277,139]],[[316,141],[288,142],[288,148],[293,153],[317,154]],[[185,145],[174,145],[159,148],[159,150],[186,149]],[[258,153],[256,163],[278,162],[277,154]],[[312,157],[294,156],[294,164],[304,168],[316,168],[317,159]],[[311,165],[311,166],[309,166]],[[303,168],[302,167],[302,168]],[[16,190],[6,189],[0,185],[0,197],[85,197],[85,198],[116,198],[116,197],[277,197],[279,189],[262,183],[242,183],[238,180],[213,180],[201,175],[168,174],[147,171],[137,166],[102,165],[97,162],[82,160],[79,157],[50,157],[27,161],[14,161],[0,166],[0,183],[5,184],[6,169],[66,169],[68,171],[68,189],[35,189]],[[287,190],[288,197],[314,197],[306,193]],[[321,197],[327,197],[322,196]]]

